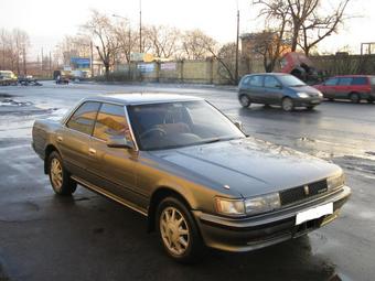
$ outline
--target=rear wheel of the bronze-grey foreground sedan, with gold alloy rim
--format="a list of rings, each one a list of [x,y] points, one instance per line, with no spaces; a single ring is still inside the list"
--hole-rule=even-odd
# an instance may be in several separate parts
[[[63,160],[56,151],[49,156],[49,175],[52,188],[58,195],[72,195],[77,188],[77,183],[64,169]]]

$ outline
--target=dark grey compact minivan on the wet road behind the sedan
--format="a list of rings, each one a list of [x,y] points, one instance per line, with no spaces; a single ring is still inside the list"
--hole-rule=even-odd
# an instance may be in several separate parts
[[[267,73],[245,75],[238,84],[238,100],[243,107],[250,104],[281,105],[286,111],[296,107],[313,109],[323,95],[290,74]]]

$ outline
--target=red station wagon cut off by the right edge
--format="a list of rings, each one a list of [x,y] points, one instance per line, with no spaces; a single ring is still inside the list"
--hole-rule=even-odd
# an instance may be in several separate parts
[[[361,102],[375,101],[375,76],[371,75],[342,75],[326,79],[324,83],[314,85],[330,100],[350,99]]]

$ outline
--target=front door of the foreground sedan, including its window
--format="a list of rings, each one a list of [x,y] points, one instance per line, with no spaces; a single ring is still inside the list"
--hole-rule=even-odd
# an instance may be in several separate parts
[[[107,141],[113,137],[130,138],[125,107],[103,104],[89,141],[90,181],[111,194],[139,205],[141,195],[137,192],[135,169],[138,152],[107,147]]]

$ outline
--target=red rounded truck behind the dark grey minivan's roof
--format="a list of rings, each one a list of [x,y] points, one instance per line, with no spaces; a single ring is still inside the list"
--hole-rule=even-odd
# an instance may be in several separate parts
[[[308,83],[319,82],[319,75],[313,63],[303,53],[289,52],[280,58],[280,73],[288,73]]]

